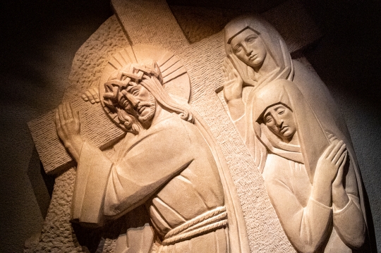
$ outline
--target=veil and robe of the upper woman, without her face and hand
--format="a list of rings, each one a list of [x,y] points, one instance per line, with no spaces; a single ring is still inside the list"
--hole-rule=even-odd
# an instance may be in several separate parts
[[[231,48],[231,39],[246,29],[250,29],[259,35],[267,50],[266,57],[272,57],[276,65],[276,68],[262,77],[256,75],[253,68],[238,59]],[[253,117],[255,94],[274,80],[289,80],[301,92],[303,99],[306,99],[306,104],[312,109],[322,130],[336,136],[339,140],[343,140],[346,144],[352,165],[351,173],[347,176],[354,178],[353,182],[357,184],[359,202],[367,228],[365,244],[369,247],[368,252],[377,252],[368,197],[366,196],[365,187],[361,179],[361,172],[358,168],[351,137],[349,136],[349,131],[346,128],[346,123],[341,115],[339,106],[335,103],[324,82],[322,82],[316,73],[304,66],[303,63],[291,59],[284,39],[272,25],[261,18],[246,15],[231,20],[224,27],[224,42],[226,57],[243,80],[242,100],[243,104],[245,104],[245,113],[234,124],[260,172],[264,171],[267,150],[255,134],[256,118]],[[313,142],[311,143],[313,144]],[[309,162],[306,161],[306,163]],[[307,171],[311,180],[313,173],[310,173],[310,168]]]

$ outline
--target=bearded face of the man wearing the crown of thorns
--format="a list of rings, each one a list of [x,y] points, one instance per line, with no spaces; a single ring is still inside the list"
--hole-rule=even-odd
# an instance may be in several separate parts
[[[156,99],[143,85],[130,82],[126,90],[123,90],[126,99],[121,106],[128,113],[138,119],[142,125],[151,123],[155,116]]]

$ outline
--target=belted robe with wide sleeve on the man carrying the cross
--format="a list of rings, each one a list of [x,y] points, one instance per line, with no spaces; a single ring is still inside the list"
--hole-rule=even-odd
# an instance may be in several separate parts
[[[171,114],[138,135],[128,133],[118,145],[114,162],[83,145],[74,221],[102,226],[145,204],[161,243],[158,252],[230,252],[235,247],[229,229],[236,230],[237,211],[226,197],[215,152],[198,127]]]

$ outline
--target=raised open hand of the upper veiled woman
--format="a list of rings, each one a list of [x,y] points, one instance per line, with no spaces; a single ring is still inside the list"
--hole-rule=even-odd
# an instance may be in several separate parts
[[[228,58],[225,58],[224,63],[222,64],[222,71],[224,72],[225,101],[229,102],[234,99],[241,99],[243,81]]]

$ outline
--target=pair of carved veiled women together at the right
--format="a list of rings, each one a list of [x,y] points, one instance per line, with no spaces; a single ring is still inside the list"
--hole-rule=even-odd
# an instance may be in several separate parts
[[[228,113],[291,243],[300,252],[370,252],[361,174],[325,85],[264,20],[232,20],[224,42]]]

